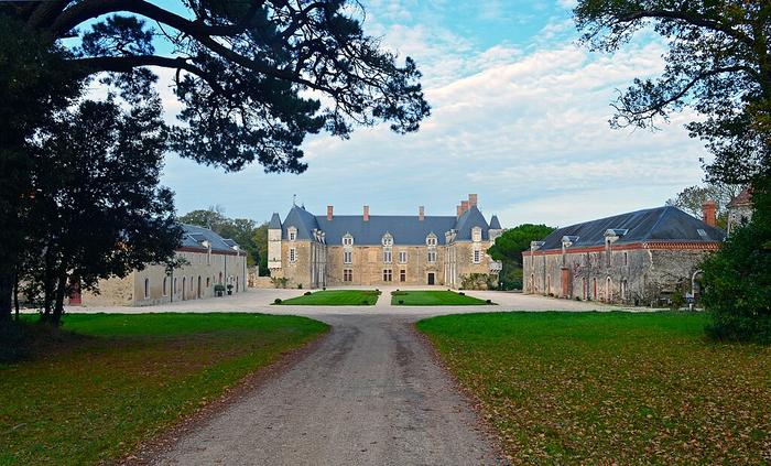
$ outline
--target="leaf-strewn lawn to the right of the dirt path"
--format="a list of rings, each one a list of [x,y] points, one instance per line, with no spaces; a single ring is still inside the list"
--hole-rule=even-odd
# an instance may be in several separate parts
[[[504,313],[417,323],[513,463],[769,464],[771,348],[703,314]]]

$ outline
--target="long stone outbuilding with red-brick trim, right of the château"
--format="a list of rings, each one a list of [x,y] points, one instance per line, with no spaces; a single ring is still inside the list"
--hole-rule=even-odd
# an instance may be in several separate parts
[[[666,206],[560,228],[522,253],[524,292],[661,304],[691,291],[702,259],[725,239],[714,209],[705,219]]]

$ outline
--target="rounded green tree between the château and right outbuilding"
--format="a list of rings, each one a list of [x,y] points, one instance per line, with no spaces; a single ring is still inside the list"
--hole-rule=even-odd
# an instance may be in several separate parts
[[[545,225],[523,224],[503,231],[487,250],[503,268],[498,281],[506,290],[522,288],[522,251],[530,249],[530,241],[537,241],[554,231]]]

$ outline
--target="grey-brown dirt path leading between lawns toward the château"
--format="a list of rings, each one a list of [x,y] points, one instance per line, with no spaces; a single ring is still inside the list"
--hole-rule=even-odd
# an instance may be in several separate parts
[[[315,316],[330,335],[158,465],[496,464],[478,418],[399,315]]]

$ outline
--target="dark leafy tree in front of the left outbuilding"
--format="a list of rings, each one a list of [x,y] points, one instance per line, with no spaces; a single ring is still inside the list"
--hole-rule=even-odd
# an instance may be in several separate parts
[[[43,290],[44,321],[58,324],[75,283],[98,291],[99,279],[173,257],[181,230],[173,195],[159,186],[161,115],[158,98],[130,110],[86,100],[36,134],[29,219],[40,256],[29,278]]]

